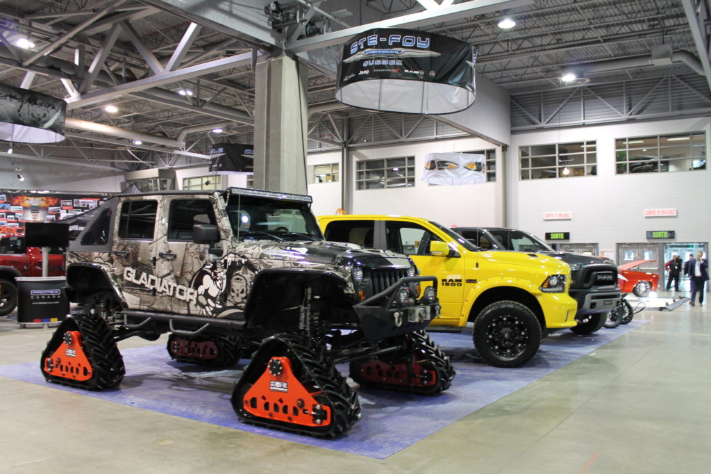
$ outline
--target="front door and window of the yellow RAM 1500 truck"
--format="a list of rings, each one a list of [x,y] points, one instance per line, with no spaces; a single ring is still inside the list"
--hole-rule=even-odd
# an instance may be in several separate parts
[[[464,299],[464,258],[434,256],[429,243],[445,241],[430,229],[409,221],[385,221],[385,248],[405,253],[415,260],[420,275],[434,275],[439,280],[437,295],[442,305],[442,323],[458,324]]]

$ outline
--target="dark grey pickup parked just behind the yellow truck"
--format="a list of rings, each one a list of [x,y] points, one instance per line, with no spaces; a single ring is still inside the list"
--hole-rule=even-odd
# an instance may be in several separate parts
[[[455,227],[452,230],[485,250],[543,253],[570,265],[568,292],[578,303],[575,314],[578,325],[571,330],[577,334],[591,334],[599,330],[605,323],[607,313],[620,301],[617,267],[607,260],[582,253],[556,251],[540,238],[513,228]]]

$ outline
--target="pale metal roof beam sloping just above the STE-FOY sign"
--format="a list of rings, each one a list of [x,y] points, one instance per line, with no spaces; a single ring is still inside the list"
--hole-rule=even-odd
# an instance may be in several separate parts
[[[346,38],[351,38],[358,33],[368,31],[372,28],[391,28],[393,26],[401,28],[419,28],[429,26],[433,23],[451,21],[459,18],[466,18],[474,15],[488,14],[494,11],[514,9],[520,6],[532,4],[533,0],[471,0],[461,4],[451,6],[441,6],[437,9],[420,11],[416,14],[396,16],[395,18],[375,21],[365,25],[353,26],[343,30],[324,33],[311,38],[304,38],[287,43],[287,51],[292,53],[302,53],[314,49],[325,48],[326,46],[336,46],[343,43]]]

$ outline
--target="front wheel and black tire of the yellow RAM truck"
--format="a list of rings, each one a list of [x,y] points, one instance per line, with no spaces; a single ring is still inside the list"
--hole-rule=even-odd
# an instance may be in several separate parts
[[[538,352],[541,329],[538,318],[525,305],[497,301],[474,320],[474,347],[493,367],[520,367]]]

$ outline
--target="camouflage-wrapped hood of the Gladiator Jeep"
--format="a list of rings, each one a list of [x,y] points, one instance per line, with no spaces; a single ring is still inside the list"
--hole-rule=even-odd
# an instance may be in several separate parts
[[[361,248],[352,243],[342,242],[242,241],[235,246],[235,251],[264,260],[343,266],[362,265],[368,268],[400,269],[412,266],[410,259],[400,253]]]

